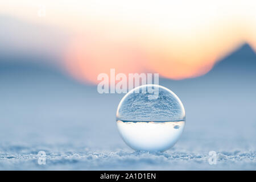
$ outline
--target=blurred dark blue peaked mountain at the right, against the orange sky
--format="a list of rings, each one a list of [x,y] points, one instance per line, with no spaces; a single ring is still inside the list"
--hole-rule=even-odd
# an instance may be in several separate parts
[[[161,79],[163,84],[183,86],[228,86],[230,84],[248,84],[254,82],[256,77],[256,53],[249,46],[243,44],[236,51],[218,61],[214,67],[205,75],[184,80]],[[225,87],[226,87],[225,86]],[[236,85],[238,86],[238,85]],[[176,87],[176,86],[175,86]]]

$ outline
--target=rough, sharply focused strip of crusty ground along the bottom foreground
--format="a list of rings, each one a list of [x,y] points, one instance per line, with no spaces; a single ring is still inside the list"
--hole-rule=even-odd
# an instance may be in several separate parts
[[[0,169],[22,170],[255,170],[256,152],[217,150],[217,163],[210,165],[207,150],[187,150],[180,142],[166,152],[138,152],[126,148],[112,151],[93,150],[85,146],[1,146]],[[213,147],[214,148],[214,147]],[[37,152],[46,151],[46,164],[38,164]]]

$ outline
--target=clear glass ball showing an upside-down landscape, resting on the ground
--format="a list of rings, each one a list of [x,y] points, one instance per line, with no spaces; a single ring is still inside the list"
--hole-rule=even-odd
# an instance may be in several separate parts
[[[142,85],[122,98],[116,119],[122,139],[134,150],[165,151],[183,132],[185,109],[171,90]]]

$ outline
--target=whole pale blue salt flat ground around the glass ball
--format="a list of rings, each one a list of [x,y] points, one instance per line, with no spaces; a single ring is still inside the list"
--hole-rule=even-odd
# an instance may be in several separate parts
[[[82,85],[65,89],[60,82],[32,85],[1,91],[0,169],[256,169],[255,116],[246,107],[241,111],[251,119],[242,119],[236,105],[226,108],[228,98],[222,105],[220,98],[188,99],[180,140],[149,153],[131,150],[119,137],[115,110],[122,95]],[[46,165],[38,164],[42,150]],[[216,165],[208,163],[209,151],[216,151]]]

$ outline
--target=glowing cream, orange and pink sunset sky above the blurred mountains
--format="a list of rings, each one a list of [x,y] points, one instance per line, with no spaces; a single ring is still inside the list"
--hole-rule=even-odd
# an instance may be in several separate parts
[[[85,83],[97,84],[97,75],[110,68],[175,80],[196,77],[243,43],[256,50],[253,0],[8,1],[0,12],[39,27],[3,34],[11,34],[15,51],[48,49],[61,68]],[[55,34],[47,36],[42,27]],[[63,32],[68,36],[57,44]]]

